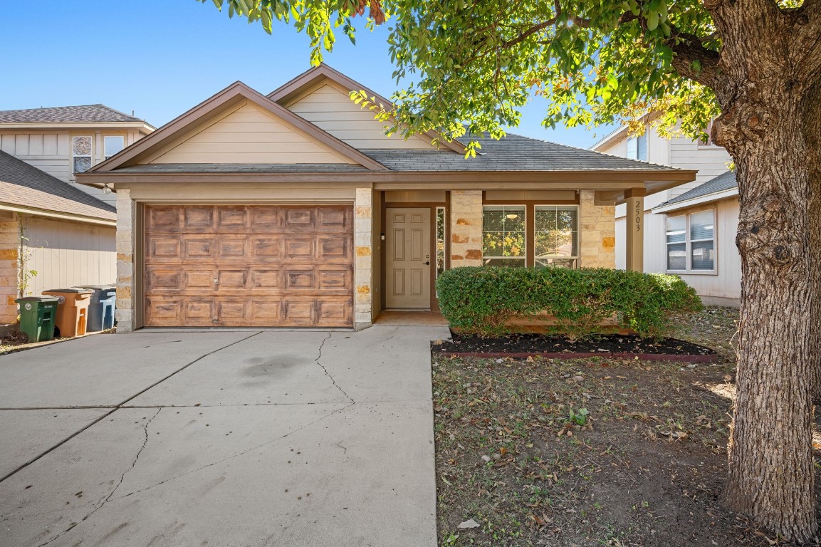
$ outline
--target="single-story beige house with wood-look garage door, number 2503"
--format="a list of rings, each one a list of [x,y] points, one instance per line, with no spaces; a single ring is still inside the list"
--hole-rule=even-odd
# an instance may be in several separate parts
[[[612,268],[614,205],[695,177],[515,135],[468,136],[465,159],[386,135],[351,90],[388,104],[325,65],[268,95],[236,82],[78,176],[117,192],[118,330],[361,329],[437,310],[446,268]],[[624,252],[640,269],[642,240]]]

